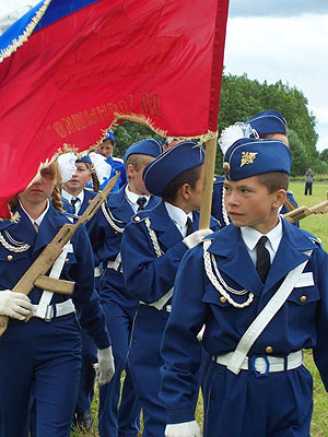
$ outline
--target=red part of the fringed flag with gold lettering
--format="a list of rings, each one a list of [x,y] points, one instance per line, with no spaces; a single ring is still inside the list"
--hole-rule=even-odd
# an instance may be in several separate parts
[[[69,0],[67,0],[69,2]],[[102,0],[0,63],[0,216],[63,143],[85,150],[116,111],[167,135],[216,131],[229,0]]]

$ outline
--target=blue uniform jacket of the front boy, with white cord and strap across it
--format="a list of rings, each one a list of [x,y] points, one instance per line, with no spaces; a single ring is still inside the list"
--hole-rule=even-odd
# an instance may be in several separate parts
[[[304,250],[313,250],[304,272],[313,275],[313,285],[296,286],[286,303],[256,340],[248,356],[266,354],[285,356],[293,351],[313,349],[315,363],[328,389],[328,256],[305,231],[282,220],[283,237],[267,281],[262,285],[242,239],[239,228],[229,225],[210,238],[209,248],[225,283],[235,290],[254,293],[254,302],[235,308],[209,281],[204,271],[203,247],[199,245],[184,258],[177,272],[172,314],[162,355],[162,399],[168,409],[169,422],[194,418],[191,393],[197,390],[195,374],[200,365],[197,333],[203,324],[202,344],[210,356],[236,349],[241,338],[281,285],[285,275],[308,259]],[[247,295],[232,295],[243,303]],[[305,296],[305,297],[304,297]]]

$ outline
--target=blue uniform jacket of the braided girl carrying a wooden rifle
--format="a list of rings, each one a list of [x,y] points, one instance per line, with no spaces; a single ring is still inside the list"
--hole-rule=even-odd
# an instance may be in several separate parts
[[[57,211],[52,205],[49,206],[38,233],[35,232],[30,218],[21,209],[17,208],[20,221],[12,223],[9,221],[0,222],[0,290],[13,288],[25,271],[40,255],[42,250],[52,240],[60,227],[66,223],[71,223],[63,213]],[[3,239],[12,246],[17,243],[25,243],[30,246],[27,250],[16,252],[5,248]],[[12,243],[15,240],[16,243]],[[98,349],[107,347],[109,336],[105,327],[105,316],[98,303],[98,296],[94,291],[93,279],[93,255],[90,240],[84,226],[80,226],[71,239],[73,253],[68,253],[60,279],[74,281],[75,287],[72,296],[54,293],[51,304],[61,303],[72,298],[80,317],[81,326],[94,338]],[[37,305],[43,291],[34,287],[28,294],[32,304]],[[32,318],[28,323],[10,320],[9,328],[3,334],[10,336],[11,326],[20,323],[22,333],[33,335]]]

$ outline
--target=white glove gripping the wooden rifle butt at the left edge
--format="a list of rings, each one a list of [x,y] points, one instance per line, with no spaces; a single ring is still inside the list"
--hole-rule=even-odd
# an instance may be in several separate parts
[[[30,316],[31,310],[31,300],[24,294],[13,293],[10,290],[0,291],[0,315],[24,320],[26,316]]]

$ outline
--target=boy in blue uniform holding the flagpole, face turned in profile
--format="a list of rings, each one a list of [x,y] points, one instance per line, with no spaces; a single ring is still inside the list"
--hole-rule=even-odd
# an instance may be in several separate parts
[[[162,201],[134,215],[122,235],[126,287],[141,302],[133,324],[129,366],[149,437],[163,436],[166,424],[165,408],[159,398],[163,364],[160,346],[175,274],[188,248],[211,233],[196,231],[202,172],[203,150],[192,141],[180,142],[149,164],[143,172],[145,187]],[[216,221],[211,226],[219,228]]]

